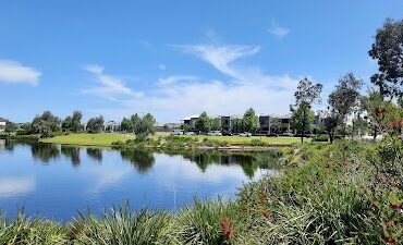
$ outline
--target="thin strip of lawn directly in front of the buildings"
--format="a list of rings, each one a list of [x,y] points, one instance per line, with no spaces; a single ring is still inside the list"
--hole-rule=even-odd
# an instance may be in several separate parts
[[[208,138],[218,142],[228,142],[230,144],[245,144],[251,143],[253,139],[260,139],[259,136],[252,137],[241,137],[241,136],[208,136],[208,135],[181,135],[180,137],[193,137],[199,140]],[[266,137],[261,136],[261,142],[267,144],[290,144],[290,143],[301,143],[298,137]],[[304,138],[304,142],[310,142],[310,138]]]

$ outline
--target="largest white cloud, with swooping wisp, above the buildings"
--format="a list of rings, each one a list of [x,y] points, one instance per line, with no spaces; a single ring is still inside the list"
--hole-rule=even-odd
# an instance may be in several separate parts
[[[258,46],[239,45],[181,45],[181,51],[191,53],[229,76],[228,79],[206,79],[188,75],[171,75],[155,82],[143,97],[121,100],[119,108],[98,108],[112,119],[137,112],[151,112],[159,122],[178,122],[179,119],[200,111],[209,114],[242,114],[248,107],[257,113],[289,113],[293,94],[301,77],[269,75],[258,66],[235,63],[253,56]]]

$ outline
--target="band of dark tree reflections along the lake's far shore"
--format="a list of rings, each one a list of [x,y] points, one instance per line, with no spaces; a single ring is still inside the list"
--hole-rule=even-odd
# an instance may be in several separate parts
[[[39,144],[39,143],[24,143],[10,139],[0,140],[0,150],[13,151],[16,146],[29,146],[32,156],[36,160],[40,160],[44,164],[48,164],[51,160],[57,159],[63,155],[71,161],[73,167],[80,167],[81,147],[70,145],[53,145],[53,144]],[[97,162],[102,162],[102,148],[86,148],[86,155],[89,159]],[[256,171],[259,169],[257,159],[260,154],[257,152],[222,152],[222,151],[203,151],[203,150],[150,150],[150,149],[123,149],[120,150],[120,156],[124,161],[130,162],[134,169],[141,174],[146,174],[152,169],[155,164],[155,154],[164,154],[168,156],[182,156],[183,159],[196,163],[198,169],[205,173],[209,166],[241,166],[244,174],[248,179],[255,176]],[[272,160],[276,161],[273,154]],[[268,159],[270,160],[270,159]],[[260,167],[265,168],[265,167]]]

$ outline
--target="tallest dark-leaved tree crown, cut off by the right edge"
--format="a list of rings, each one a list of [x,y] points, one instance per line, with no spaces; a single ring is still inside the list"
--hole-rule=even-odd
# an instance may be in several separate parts
[[[375,42],[368,51],[378,61],[379,72],[371,76],[371,83],[384,96],[402,97],[403,85],[403,20],[387,19],[375,35]]]

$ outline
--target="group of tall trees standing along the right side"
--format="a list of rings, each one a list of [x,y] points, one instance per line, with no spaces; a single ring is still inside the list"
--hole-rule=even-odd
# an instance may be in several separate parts
[[[343,137],[363,135],[370,131],[374,138],[384,132],[401,134],[403,127],[403,20],[388,19],[377,29],[368,54],[378,62],[378,72],[370,77],[375,88],[361,94],[363,79],[353,73],[342,76],[328,97],[327,110],[321,111],[321,126],[332,143],[334,133]],[[313,105],[321,102],[321,84],[308,78],[298,83],[291,106],[292,126],[303,142],[314,120]],[[347,119],[351,125],[346,125]]]

